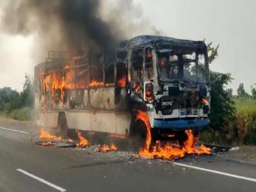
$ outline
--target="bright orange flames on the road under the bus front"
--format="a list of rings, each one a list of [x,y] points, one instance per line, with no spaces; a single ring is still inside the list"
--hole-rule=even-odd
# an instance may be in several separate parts
[[[151,125],[149,121],[149,116],[147,112],[143,110],[138,110],[137,112],[137,120],[141,120],[147,127],[147,136],[146,143],[143,149],[140,150],[139,155],[143,157],[149,158],[165,158],[165,159],[176,159],[185,157],[185,154],[193,154],[193,155],[202,155],[207,154],[210,155],[212,153],[210,148],[206,148],[203,144],[201,144],[200,148],[196,148],[194,144],[194,135],[192,130],[186,130],[188,140],[185,141],[184,147],[180,148],[179,146],[171,146],[170,144],[165,144],[165,146],[161,146],[160,141],[157,142],[157,145],[151,145]]]

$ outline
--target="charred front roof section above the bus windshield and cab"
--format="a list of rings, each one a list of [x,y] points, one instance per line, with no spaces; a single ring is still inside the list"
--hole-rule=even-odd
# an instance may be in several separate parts
[[[172,37],[158,35],[140,35],[130,40],[121,41],[119,48],[139,48],[147,44],[170,44],[171,47],[182,47],[188,49],[206,49],[204,41],[180,40]]]

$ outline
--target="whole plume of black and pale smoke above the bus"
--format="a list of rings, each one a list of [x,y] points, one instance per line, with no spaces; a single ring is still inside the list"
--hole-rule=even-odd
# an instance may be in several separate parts
[[[74,55],[77,49],[111,50],[142,27],[154,34],[141,15],[140,7],[129,0],[19,0],[5,6],[1,28],[13,35],[37,34],[38,51],[62,49]]]

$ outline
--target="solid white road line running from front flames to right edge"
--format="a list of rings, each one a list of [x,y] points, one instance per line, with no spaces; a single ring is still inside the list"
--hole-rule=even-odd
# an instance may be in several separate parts
[[[168,161],[165,161],[165,162],[168,162]],[[179,166],[184,166],[186,168],[197,169],[197,170],[206,171],[206,172],[212,172],[212,173],[219,174],[222,176],[228,176],[228,177],[233,177],[236,179],[244,179],[244,180],[249,180],[251,182],[256,182],[256,179],[251,178],[251,177],[238,176],[238,175],[230,174],[227,172],[215,171],[213,169],[205,169],[205,168],[201,168],[199,166],[187,165],[187,164],[183,164],[183,163],[176,163],[176,162],[168,162],[168,163],[172,163],[174,165],[179,165]]]

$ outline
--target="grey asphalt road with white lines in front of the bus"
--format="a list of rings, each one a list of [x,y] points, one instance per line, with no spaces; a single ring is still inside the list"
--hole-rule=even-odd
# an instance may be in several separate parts
[[[32,126],[0,127],[0,191],[256,191],[255,165],[218,155],[170,162],[44,147]]]

